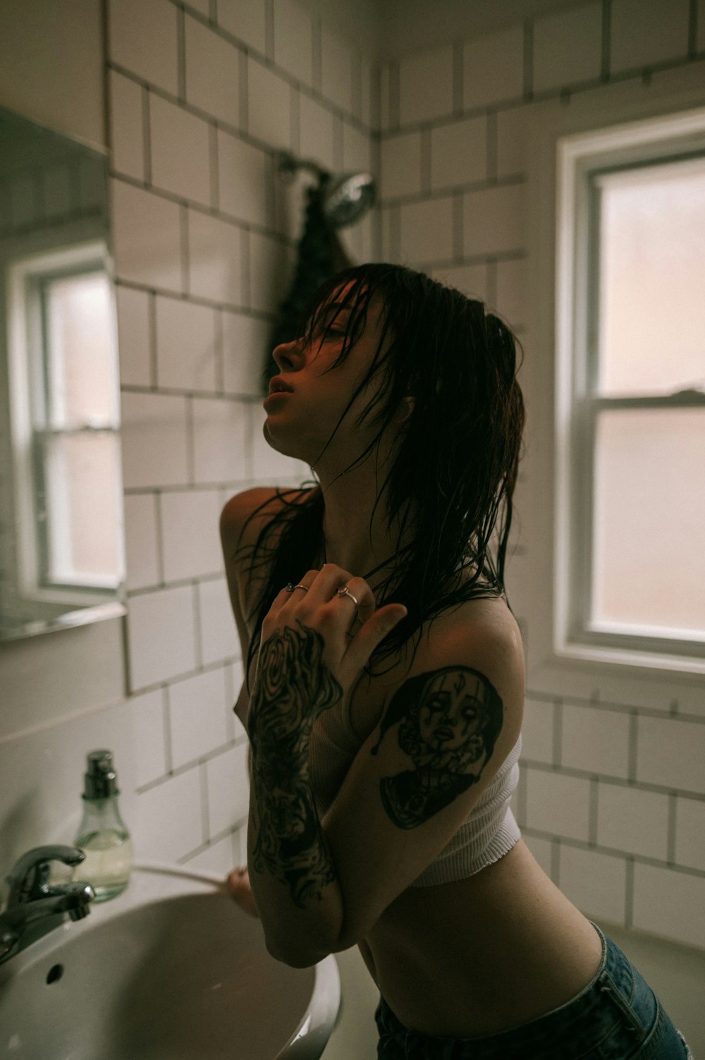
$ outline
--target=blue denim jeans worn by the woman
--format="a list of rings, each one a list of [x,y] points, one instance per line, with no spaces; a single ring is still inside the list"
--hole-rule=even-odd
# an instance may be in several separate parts
[[[377,1060],[692,1060],[651,987],[594,926],[602,962],[565,1005],[499,1035],[441,1038],[408,1030],[382,997]]]

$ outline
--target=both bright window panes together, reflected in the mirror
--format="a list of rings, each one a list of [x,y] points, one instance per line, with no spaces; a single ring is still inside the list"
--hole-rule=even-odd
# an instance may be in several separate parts
[[[117,588],[124,571],[109,279],[102,268],[49,276],[36,297],[46,381],[34,430],[39,581]]]

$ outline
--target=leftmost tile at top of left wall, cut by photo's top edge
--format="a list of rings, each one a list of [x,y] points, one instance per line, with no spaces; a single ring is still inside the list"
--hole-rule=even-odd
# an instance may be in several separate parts
[[[172,95],[178,91],[177,8],[170,0],[110,0],[108,58]]]

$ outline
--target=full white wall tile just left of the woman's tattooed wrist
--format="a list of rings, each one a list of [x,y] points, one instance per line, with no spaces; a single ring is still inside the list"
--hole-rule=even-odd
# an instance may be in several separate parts
[[[174,682],[166,691],[173,770],[227,743],[221,670],[207,670]]]

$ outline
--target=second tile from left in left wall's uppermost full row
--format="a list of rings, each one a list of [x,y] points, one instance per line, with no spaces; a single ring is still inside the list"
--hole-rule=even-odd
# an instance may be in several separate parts
[[[195,18],[186,16],[186,98],[211,118],[240,127],[242,51]]]

